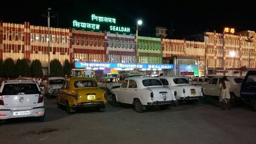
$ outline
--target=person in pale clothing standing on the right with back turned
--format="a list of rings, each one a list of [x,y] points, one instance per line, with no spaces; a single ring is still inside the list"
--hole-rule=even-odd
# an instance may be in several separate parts
[[[230,82],[226,76],[223,76],[223,81],[219,84],[218,88],[221,90],[220,102],[222,103],[222,110],[230,110]]]

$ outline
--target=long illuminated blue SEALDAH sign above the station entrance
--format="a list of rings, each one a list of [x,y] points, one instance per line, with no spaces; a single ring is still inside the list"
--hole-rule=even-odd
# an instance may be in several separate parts
[[[94,63],[94,62],[76,62],[76,68],[122,68],[136,69],[136,63]],[[143,64],[137,63],[138,69],[174,69],[173,64]]]

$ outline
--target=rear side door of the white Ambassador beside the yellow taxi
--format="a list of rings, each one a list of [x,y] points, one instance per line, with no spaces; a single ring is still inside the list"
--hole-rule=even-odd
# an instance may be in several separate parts
[[[134,95],[136,95],[138,91],[137,88],[137,83],[134,80],[129,80],[128,88],[126,89],[126,94],[125,94],[125,101],[128,104],[133,103]]]

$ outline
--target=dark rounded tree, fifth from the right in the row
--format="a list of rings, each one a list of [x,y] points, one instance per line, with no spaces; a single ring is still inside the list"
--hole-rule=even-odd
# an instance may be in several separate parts
[[[4,68],[3,75],[6,78],[15,77],[15,64],[12,58],[6,58],[6,60],[3,63],[3,68]]]

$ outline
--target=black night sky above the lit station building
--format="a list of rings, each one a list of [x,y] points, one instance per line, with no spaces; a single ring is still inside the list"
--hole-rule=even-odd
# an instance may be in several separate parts
[[[141,19],[143,25],[139,35],[143,36],[154,36],[156,26],[165,26],[170,32],[172,24],[174,35],[170,38],[183,38],[207,30],[222,32],[225,26],[237,32],[256,30],[256,2],[253,0],[5,0],[1,1],[0,20],[47,26],[47,17],[41,14],[48,7],[58,12],[61,28],[72,27],[73,20],[90,23],[91,14],[96,14],[116,18],[116,24],[131,27],[132,33],[135,33],[135,23]],[[57,27],[57,18],[51,18],[51,26]]]

